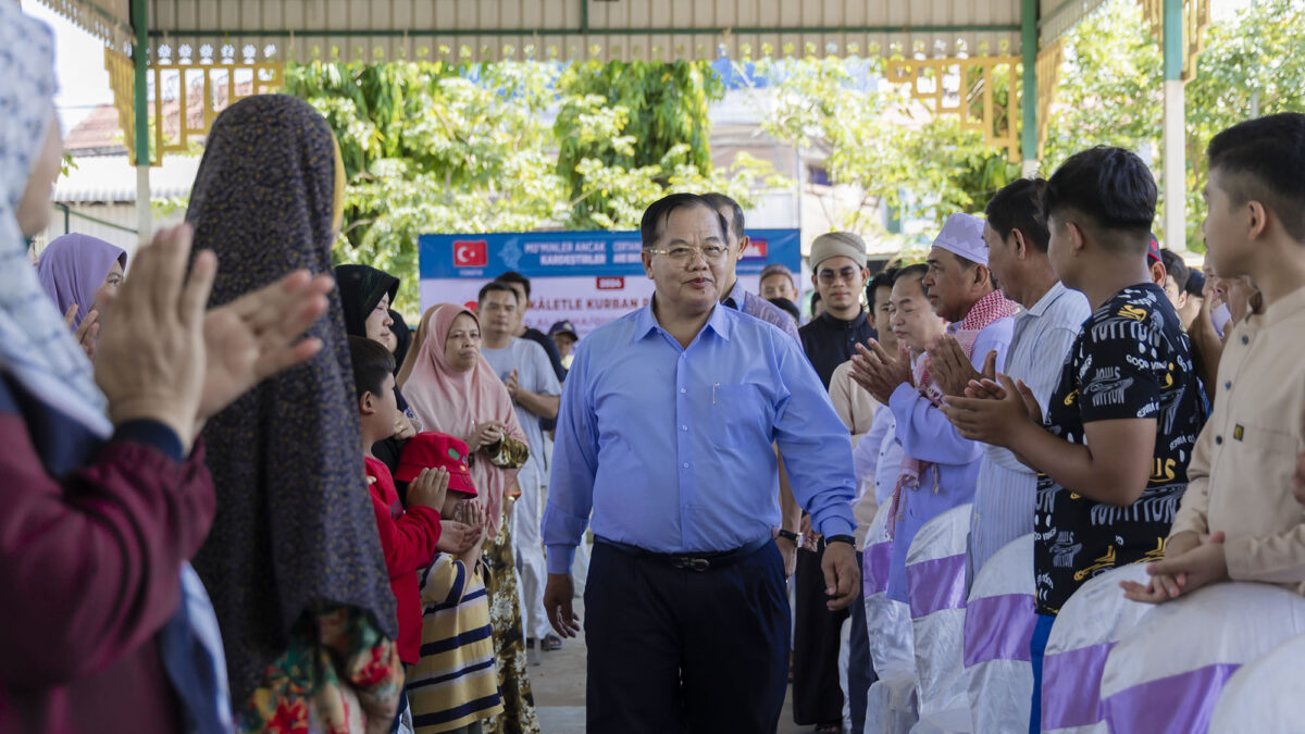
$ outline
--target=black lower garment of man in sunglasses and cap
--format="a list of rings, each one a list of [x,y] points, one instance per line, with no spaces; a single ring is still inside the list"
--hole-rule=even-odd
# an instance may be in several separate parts
[[[847,610],[830,611],[825,606],[825,573],[820,551],[797,550],[797,572],[793,575],[793,722],[842,724],[843,690],[838,683],[839,632]],[[864,705],[864,704],[863,704]],[[864,716],[865,712],[861,712]]]

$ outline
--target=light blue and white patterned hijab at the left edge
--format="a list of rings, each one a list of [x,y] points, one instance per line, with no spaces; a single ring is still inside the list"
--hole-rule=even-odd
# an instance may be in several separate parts
[[[90,360],[40,289],[17,209],[55,119],[50,29],[0,3],[0,370],[98,436],[112,426]],[[103,279],[103,278],[102,278]]]

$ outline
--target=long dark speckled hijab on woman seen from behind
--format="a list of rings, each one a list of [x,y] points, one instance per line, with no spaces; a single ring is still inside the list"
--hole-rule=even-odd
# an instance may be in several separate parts
[[[213,123],[191,192],[194,247],[219,261],[211,306],[296,268],[330,273],[334,137],[305,102],[257,95]],[[364,479],[339,295],[308,329],[325,347],[209,421],[217,517],[194,567],[218,611],[244,705],[313,602],[372,613],[395,639],[394,594]]]

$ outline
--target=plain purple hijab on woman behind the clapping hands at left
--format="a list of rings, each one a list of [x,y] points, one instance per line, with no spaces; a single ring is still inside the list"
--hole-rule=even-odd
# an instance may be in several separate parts
[[[127,270],[127,251],[90,235],[67,234],[55,239],[40,252],[37,276],[40,287],[59,307],[59,315],[77,304],[73,328],[95,307],[95,293],[114,268],[114,260]]]

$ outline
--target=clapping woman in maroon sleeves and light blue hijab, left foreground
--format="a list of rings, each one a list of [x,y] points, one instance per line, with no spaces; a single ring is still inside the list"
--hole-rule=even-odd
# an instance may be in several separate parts
[[[192,440],[316,351],[287,345],[329,286],[287,278],[205,315],[214,260],[188,278],[188,232],[163,231],[93,375],[23,246],[59,175],[51,34],[0,3],[0,731],[230,733],[217,622],[185,564],[213,517]],[[252,316],[268,310],[287,316]]]

